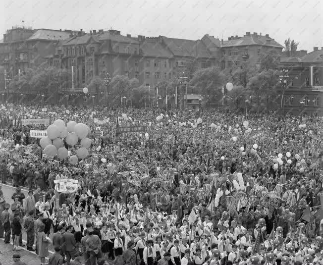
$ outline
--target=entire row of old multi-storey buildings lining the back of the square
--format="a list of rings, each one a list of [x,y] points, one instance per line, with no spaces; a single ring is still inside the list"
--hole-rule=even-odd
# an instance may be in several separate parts
[[[8,78],[12,78],[28,67],[47,61],[58,68],[72,69],[75,88],[82,88],[94,76],[105,77],[107,73],[112,77],[137,78],[140,85],[155,88],[162,80],[185,75],[183,72],[192,62],[198,68],[225,69],[248,60],[256,67],[263,52],[281,53],[282,49],[283,46],[268,34],[256,32],[246,32],[242,37],[230,36],[227,40],[208,34],[200,40],[185,40],[165,36],[134,37],[112,29],[86,33],[82,29],[12,27],[3,34],[0,43],[0,65]],[[308,108],[313,105],[313,109],[318,109],[323,105],[320,97],[322,54],[322,49],[314,48],[311,53],[300,51],[297,57],[281,60],[280,67],[289,69],[288,86],[281,91],[282,105],[286,109],[291,111],[293,104],[299,105],[303,98]]]

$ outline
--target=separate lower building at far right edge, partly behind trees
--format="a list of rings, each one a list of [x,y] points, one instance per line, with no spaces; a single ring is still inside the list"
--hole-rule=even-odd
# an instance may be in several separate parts
[[[280,104],[285,112],[323,115],[323,47],[301,52],[280,61],[279,68],[288,76],[280,89]]]

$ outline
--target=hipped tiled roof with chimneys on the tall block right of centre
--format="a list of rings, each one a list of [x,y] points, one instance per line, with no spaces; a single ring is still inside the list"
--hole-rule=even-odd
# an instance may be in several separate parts
[[[267,40],[270,40],[270,43],[267,43]],[[223,41],[221,47],[235,47],[248,45],[265,45],[270,47],[283,48],[283,46],[277,43],[274,39],[259,35],[244,36],[230,41]]]

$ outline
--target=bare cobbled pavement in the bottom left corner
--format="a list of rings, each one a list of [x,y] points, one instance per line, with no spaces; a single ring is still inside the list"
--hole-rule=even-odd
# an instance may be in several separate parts
[[[27,265],[40,265],[41,261],[35,253],[27,250],[13,251],[12,244],[4,244],[3,239],[0,239],[0,264],[1,265],[12,265],[12,255],[19,254],[21,256],[20,261]]]

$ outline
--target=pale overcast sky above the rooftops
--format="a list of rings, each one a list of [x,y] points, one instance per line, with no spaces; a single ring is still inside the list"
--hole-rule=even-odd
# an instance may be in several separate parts
[[[35,29],[113,28],[192,40],[249,31],[281,45],[290,37],[308,52],[323,46],[323,0],[3,0],[1,9],[1,34],[24,20]]]

